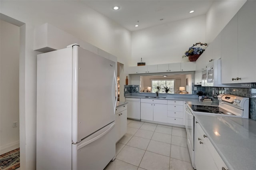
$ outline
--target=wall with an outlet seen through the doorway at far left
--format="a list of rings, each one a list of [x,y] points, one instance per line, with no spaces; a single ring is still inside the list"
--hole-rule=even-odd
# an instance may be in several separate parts
[[[19,148],[20,28],[0,20],[0,154]],[[12,127],[18,122],[17,127]]]

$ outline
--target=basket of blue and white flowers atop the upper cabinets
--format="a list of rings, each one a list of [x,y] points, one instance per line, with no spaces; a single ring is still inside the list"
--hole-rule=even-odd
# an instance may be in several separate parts
[[[196,47],[197,45],[203,46],[204,47]],[[200,57],[200,55],[204,52],[204,50],[206,49],[207,43],[195,43],[193,44],[192,47],[189,47],[188,51],[185,52],[185,55],[182,56],[183,57],[188,57],[189,61],[196,61],[198,59],[198,57]]]

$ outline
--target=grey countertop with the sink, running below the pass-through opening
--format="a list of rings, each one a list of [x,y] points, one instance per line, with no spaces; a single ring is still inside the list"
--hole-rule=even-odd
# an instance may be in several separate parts
[[[214,101],[213,103],[204,103],[202,101],[199,101],[198,98],[192,98],[192,97],[167,97],[167,96],[164,96],[166,98],[147,98],[145,96],[149,96],[149,95],[128,95],[126,97],[128,97],[128,98],[141,98],[141,99],[157,99],[157,100],[158,99],[161,99],[161,100],[183,100],[183,101],[185,101],[185,103],[192,104],[192,105],[214,105],[214,106],[219,105],[218,101]]]

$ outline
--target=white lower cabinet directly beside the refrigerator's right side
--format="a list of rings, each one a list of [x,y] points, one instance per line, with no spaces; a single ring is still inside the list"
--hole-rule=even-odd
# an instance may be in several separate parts
[[[116,142],[124,136],[127,131],[127,104],[116,108]]]

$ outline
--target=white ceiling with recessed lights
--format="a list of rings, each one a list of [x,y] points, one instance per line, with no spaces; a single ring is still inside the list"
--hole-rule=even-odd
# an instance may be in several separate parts
[[[90,8],[130,31],[206,14],[214,0],[85,0]],[[113,10],[120,6],[119,10]],[[194,10],[194,13],[189,13]],[[164,19],[164,20],[160,20]],[[137,22],[139,21],[139,23]],[[136,24],[138,27],[135,27]]]

